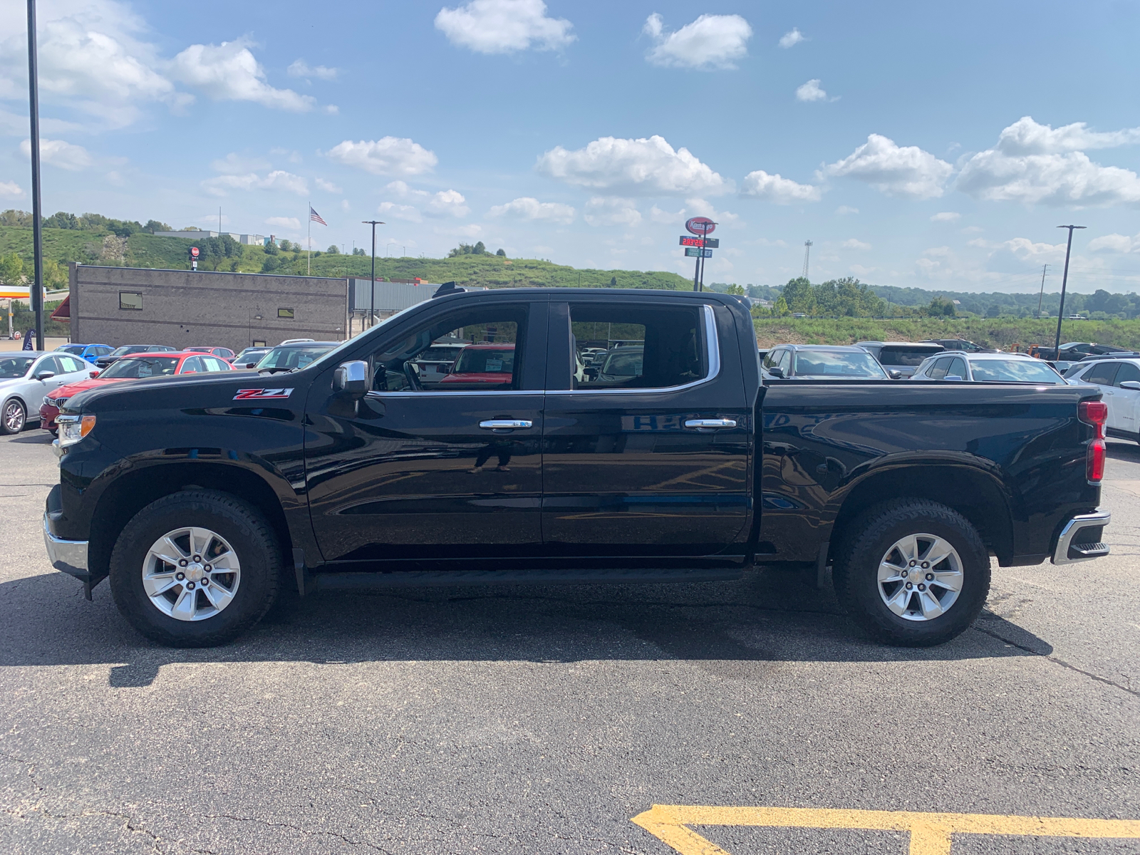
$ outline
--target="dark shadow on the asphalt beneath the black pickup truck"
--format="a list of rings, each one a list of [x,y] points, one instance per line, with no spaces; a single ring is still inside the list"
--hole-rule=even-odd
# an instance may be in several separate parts
[[[164,665],[368,661],[648,660],[765,682],[785,661],[940,661],[1049,656],[1052,646],[983,612],[925,649],[865,638],[830,587],[787,572],[685,585],[512,585],[325,593],[270,614],[236,642],[171,650],[138,634],[106,584],[95,602],[62,573],[0,585],[0,666],[109,665],[115,687],[150,685]]]

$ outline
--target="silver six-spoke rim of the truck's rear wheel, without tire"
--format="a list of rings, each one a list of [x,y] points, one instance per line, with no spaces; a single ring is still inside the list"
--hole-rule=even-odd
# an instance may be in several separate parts
[[[879,562],[879,596],[906,620],[934,620],[962,591],[962,559],[937,535],[907,535]]]

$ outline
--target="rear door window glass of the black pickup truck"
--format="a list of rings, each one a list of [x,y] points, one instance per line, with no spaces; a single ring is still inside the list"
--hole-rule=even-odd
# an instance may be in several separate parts
[[[577,389],[668,389],[708,373],[702,308],[570,303],[571,344],[604,348],[575,372]],[[577,363],[577,360],[576,360]]]

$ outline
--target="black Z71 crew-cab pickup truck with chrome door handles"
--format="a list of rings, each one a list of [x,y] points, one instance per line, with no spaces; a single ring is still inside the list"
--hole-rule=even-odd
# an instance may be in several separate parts
[[[926,645],[977,617],[991,555],[1108,553],[1092,386],[765,384],[733,296],[440,291],[300,370],[71,398],[52,564],[180,646],[320,589],[831,565],[872,636]],[[440,340],[466,348],[429,384]]]

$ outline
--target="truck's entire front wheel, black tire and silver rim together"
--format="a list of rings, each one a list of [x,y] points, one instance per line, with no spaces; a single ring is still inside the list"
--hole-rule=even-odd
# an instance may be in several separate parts
[[[225,644],[274,604],[282,553],[251,505],[215,490],[164,496],[127,523],[111,591],[131,626],[172,648]]]

